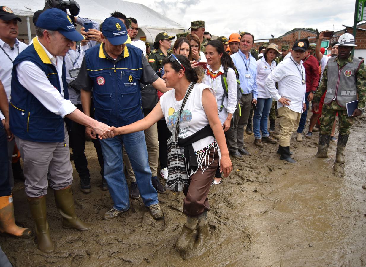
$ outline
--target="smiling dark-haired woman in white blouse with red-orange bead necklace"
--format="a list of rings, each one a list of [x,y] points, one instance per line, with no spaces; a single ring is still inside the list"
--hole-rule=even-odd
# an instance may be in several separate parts
[[[238,102],[236,101],[237,89],[236,89],[236,75],[234,71],[234,63],[231,57],[224,50],[224,45],[219,40],[212,40],[206,45],[206,59],[207,69],[205,73],[205,80],[203,83],[209,85],[216,93],[217,109],[219,112],[219,119],[223,125],[224,132],[226,132],[231,125],[231,120],[236,109]],[[226,82],[228,85],[227,93],[226,88],[223,88],[222,78],[224,70],[227,69]],[[223,102],[224,100],[224,102]],[[222,108],[221,108],[222,104]],[[220,168],[217,168],[213,185],[221,184],[222,178]]]

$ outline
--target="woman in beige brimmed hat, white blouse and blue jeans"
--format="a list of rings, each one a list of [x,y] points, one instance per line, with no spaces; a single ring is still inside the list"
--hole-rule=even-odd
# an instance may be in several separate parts
[[[263,147],[263,142],[277,143],[268,132],[268,115],[272,106],[272,97],[265,89],[265,81],[268,75],[276,67],[275,58],[280,55],[278,45],[270,44],[264,51],[263,57],[257,60],[257,108],[253,116],[254,144]],[[262,132],[262,135],[261,135]]]

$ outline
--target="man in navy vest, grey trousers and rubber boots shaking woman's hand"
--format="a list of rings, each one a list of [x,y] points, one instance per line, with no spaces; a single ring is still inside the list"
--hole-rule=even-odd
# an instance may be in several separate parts
[[[83,40],[70,17],[57,8],[46,10],[38,17],[36,34],[14,60],[9,113],[10,129],[24,161],[25,191],[36,223],[38,248],[49,253],[55,245],[46,219],[47,173],[63,227],[81,231],[90,228],[74,209],[64,117],[91,127],[106,138],[113,135],[108,133],[108,125],[86,116],[68,100],[63,57],[73,41]]]

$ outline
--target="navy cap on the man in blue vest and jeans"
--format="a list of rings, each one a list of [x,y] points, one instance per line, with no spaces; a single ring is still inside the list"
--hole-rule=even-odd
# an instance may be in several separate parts
[[[102,33],[112,45],[130,44],[131,38],[122,20],[109,17],[102,25]]]

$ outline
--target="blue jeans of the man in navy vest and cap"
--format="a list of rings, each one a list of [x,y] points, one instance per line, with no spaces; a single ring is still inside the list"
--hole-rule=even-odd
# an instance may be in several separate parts
[[[126,211],[130,208],[128,186],[123,172],[123,147],[130,159],[136,175],[138,189],[146,207],[158,203],[158,196],[151,183],[151,170],[147,157],[145,135],[143,131],[118,135],[100,141],[104,158],[104,178],[114,208]]]

